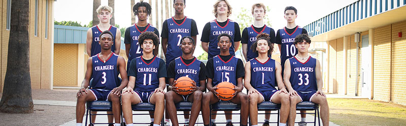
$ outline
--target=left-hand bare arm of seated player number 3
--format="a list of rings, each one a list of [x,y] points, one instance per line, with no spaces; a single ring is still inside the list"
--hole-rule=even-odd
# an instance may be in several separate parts
[[[85,78],[82,81],[82,85],[80,86],[80,89],[76,95],[76,97],[79,97],[81,95],[87,94],[87,86],[89,86],[90,83],[90,77],[92,76],[92,57],[89,57],[87,59],[87,64],[86,64],[86,73],[85,73]]]

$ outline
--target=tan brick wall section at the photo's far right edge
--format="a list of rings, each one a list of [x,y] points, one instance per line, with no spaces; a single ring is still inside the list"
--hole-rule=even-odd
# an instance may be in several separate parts
[[[406,104],[406,21],[392,24],[392,101]]]

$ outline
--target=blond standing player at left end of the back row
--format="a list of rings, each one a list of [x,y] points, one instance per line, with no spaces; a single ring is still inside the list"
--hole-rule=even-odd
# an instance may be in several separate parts
[[[120,54],[120,45],[121,45],[121,32],[116,27],[110,25],[110,19],[113,16],[113,9],[109,6],[99,6],[97,8],[97,18],[99,24],[89,28],[87,30],[86,37],[86,52],[89,57],[100,53],[100,34],[103,31],[109,30],[113,33],[113,46],[111,51],[115,52],[117,55]],[[118,36],[118,37],[116,37]]]

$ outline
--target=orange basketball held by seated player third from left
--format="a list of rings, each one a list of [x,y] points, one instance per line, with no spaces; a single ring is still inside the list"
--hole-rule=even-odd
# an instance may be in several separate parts
[[[180,95],[188,95],[192,93],[192,88],[194,86],[194,82],[189,77],[180,77],[175,82],[175,87],[178,87],[177,93]]]

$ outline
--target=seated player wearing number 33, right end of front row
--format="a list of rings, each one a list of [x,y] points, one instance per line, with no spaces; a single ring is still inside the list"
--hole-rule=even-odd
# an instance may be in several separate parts
[[[291,96],[289,125],[294,125],[296,104],[311,101],[320,104],[321,120],[323,125],[328,126],[329,109],[326,95],[322,91],[320,62],[308,54],[311,42],[307,34],[297,35],[294,45],[299,52],[285,62],[284,82]]]

